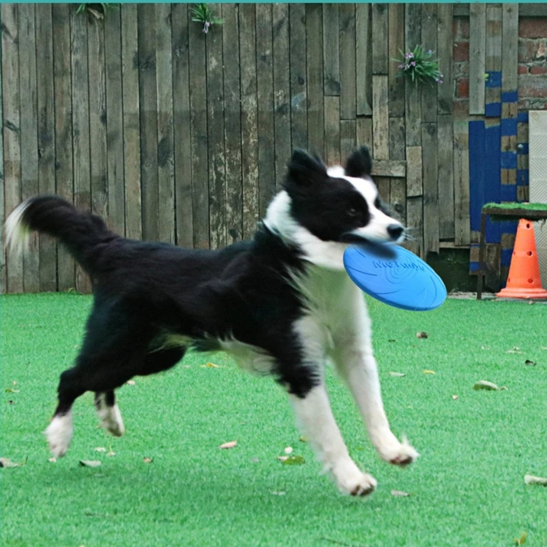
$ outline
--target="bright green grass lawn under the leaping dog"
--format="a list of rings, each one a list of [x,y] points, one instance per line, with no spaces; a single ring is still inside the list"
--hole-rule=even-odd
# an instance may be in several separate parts
[[[355,499],[319,475],[281,388],[222,354],[191,354],[121,388],[120,439],[97,428],[84,395],[74,405],[71,450],[49,462],[42,430],[91,300],[0,302],[1,451],[26,462],[1,472],[3,547],[485,547],[514,545],[523,532],[526,545],[547,545],[547,488],[523,480],[547,476],[545,305],[447,300],[413,313],[369,301],[386,411],[421,457],[409,469],[381,462],[330,372],[350,452],[379,481],[374,494]],[[416,338],[422,330],[427,339]],[[208,360],[219,368],[203,366]],[[508,389],[474,391],[478,380]],[[218,449],[230,440],[234,449]],[[306,463],[281,464],[286,446]],[[102,465],[80,467],[80,459]]]

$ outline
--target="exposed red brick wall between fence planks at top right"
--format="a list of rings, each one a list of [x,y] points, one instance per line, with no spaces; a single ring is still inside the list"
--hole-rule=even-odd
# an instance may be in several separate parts
[[[469,17],[453,21],[453,113],[469,117]],[[519,110],[547,109],[547,18],[519,19]]]

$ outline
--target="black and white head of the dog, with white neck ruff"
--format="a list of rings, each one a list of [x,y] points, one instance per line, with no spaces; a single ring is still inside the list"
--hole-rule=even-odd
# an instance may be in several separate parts
[[[366,147],[353,152],[345,167],[330,168],[317,156],[295,150],[284,192],[272,202],[266,225],[298,243],[311,261],[336,267],[348,243],[401,241],[404,226],[382,204],[371,166]]]

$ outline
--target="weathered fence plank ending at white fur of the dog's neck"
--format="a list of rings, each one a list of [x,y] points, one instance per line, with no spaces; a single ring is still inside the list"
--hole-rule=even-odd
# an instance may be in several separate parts
[[[256,5],[257,21],[257,104],[258,180],[260,217],[275,194],[274,150],[274,56],[272,6]]]

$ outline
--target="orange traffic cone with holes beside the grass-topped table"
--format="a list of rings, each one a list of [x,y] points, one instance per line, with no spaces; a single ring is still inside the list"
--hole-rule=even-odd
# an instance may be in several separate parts
[[[513,257],[509,266],[507,286],[496,294],[500,298],[547,298],[539,277],[534,226],[521,218],[516,230]]]

